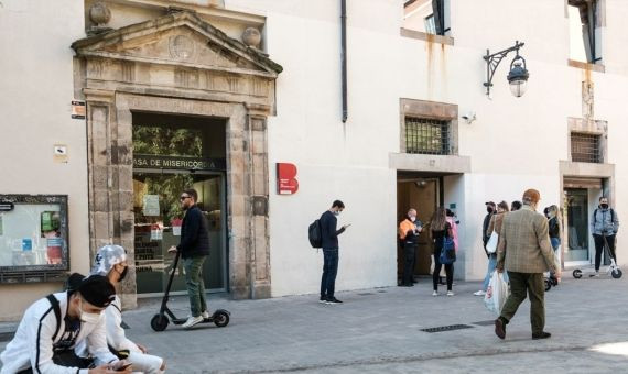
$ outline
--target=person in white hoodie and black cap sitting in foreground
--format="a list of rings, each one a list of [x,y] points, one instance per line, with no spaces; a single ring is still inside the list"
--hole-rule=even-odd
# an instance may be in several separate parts
[[[99,275],[71,278],[78,282],[67,292],[48,295],[26,309],[13,340],[0,354],[0,374],[131,373],[128,363],[107,346],[101,312],[113,301],[116,289]],[[75,354],[82,343],[88,359]]]

